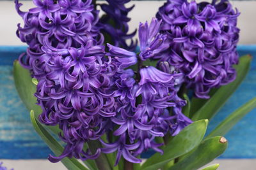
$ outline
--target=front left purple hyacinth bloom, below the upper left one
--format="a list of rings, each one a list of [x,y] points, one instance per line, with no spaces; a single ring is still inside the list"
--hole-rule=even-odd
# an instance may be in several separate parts
[[[81,48],[46,52],[44,77],[38,81],[36,97],[43,112],[39,117],[45,125],[59,125],[60,138],[67,143],[59,157],[95,159],[100,154],[84,152],[84,143],[99,139],[106,131],[109,117],[116,115],[111,92],[111,76],[115,67],[104,59],[104,46],[87,43]]]

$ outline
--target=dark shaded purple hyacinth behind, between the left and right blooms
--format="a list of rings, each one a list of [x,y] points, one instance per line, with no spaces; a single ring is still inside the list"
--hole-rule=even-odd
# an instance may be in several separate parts
[[[107,0],[108,4],[100,4],[100,8],[105,12],[105,15],[100,18],[97,25],[100,31],[106,35],[107,43],[127,50],[134,50],[137,43],[132,41],[132,37],[136,34],[136,30],[128,34],[128,22],[131,18],[127,17],[134,5],[129,8],[125,7],[125,4],[129,1],[131,0]],[[130,39],[130,45],[127,44],[127,39]]]

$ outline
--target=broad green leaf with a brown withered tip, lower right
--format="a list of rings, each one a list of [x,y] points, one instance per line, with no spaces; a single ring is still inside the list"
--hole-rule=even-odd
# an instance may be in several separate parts
[[[198,147],[182,156],[182,159],[169,170],[196,170],[221,155],[227,144],[227,140],[221,136],[205,139]]]

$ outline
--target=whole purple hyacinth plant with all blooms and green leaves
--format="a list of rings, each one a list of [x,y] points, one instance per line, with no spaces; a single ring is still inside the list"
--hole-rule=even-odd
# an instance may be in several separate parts
[[[22,11],[15,0],[24,20],[17,36],[28,49],[13,72],[51,162],[198,169],[225,151],[227,129],[255,107],[252,99],[204,138],[251,61],[236,52],[239,12],[227,0],[168,0],[140,23],[138,41],[136,31],[128,34],[129,0],[33,2]]]

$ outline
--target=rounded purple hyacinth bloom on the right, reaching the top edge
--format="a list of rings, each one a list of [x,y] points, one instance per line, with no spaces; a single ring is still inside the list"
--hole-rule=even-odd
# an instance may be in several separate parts
[[[186,85],[200,98],[209,98],[213,87],[236,78],[239,39],[237,17],[228,0],[196,3],[168,0],[157,13],[168,50],[159,59],[184,73]]]

